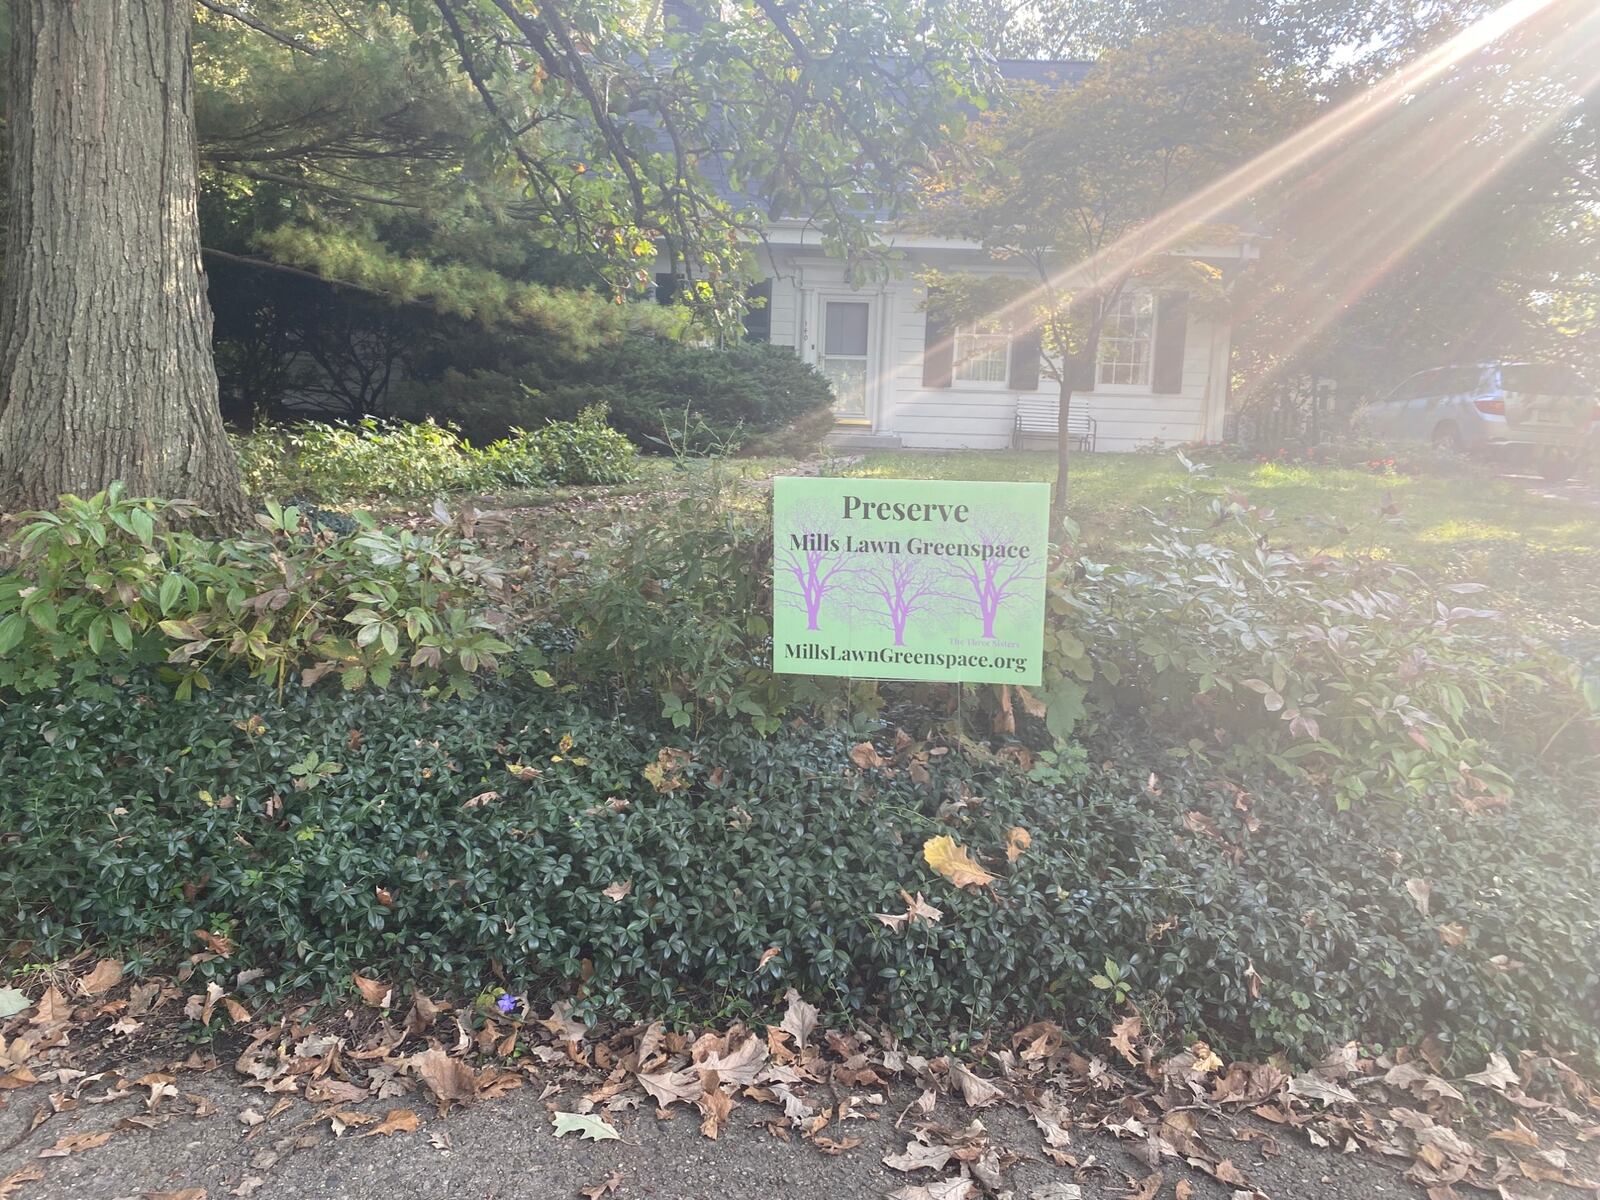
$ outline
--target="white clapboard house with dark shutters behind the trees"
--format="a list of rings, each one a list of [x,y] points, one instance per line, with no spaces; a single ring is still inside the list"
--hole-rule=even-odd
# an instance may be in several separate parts
[[[1016,445],[1019,397],[1051,403],[1056,397],[1056,381],[1040,373],[1037,334],[946,330],[936,312],[930,317],[918,278],[928,267],[946,274],[1008,267],[973,242],[899,232],[883,238],[899,251],[901,269],[858,288],[846,282],[843,262],[822,251],[814,229],[774,224],[760,251],[768,306],[752,333],[795,347],[832,381],[835,445]],[[1229,270],[1258,250],[1246,238],[1197,253]],[[1229,323],[1190,310],[1182,293],[1128,291],[1101,338],[1093,382],[1080,381],[1074,390],[1074,413],[1094,419],[1094,448],[1221,440],[1229,341]],[[1040,445],[1037,437],[1026,442]]]

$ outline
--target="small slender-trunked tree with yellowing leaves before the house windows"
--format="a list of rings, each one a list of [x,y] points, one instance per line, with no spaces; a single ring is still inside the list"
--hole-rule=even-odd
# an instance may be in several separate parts
[[[1237,243],[1229,218],[1184,219],[1179,202],[1282,134],[1298,93],[1250,38],[1179,29],[1109,51],[1072,88],[1027,88],[976,122],[966,154],[938,179],[925,221],[1021,262],[1024,280],[933,280],[947,315],[998,315],[1042,333],[1062,418],[1094,370],[1101,333],[1133,280],[1219,298],[1205,243]],[[984,170],[966,170],[978,158]],[[1243,205],[1240,206],[1243,210]],[[1056,504],[1064,510],[1067,421]]]

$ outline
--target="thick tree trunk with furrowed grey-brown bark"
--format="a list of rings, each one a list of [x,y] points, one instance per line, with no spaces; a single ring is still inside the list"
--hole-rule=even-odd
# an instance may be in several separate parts
[[[122,480],[243,509],[195,211],[190,0],[10,0],[0,510]]]

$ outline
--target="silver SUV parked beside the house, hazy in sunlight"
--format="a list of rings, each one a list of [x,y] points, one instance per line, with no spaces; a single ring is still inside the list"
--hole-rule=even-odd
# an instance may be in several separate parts
[[[1533,454],[1547,469],[1571,470],[1600,410],[1570,366],[1482,363],[1419,371],[1357,422],[1376,438],[1432,442],[1445,450]]]

